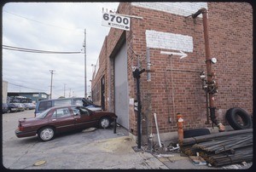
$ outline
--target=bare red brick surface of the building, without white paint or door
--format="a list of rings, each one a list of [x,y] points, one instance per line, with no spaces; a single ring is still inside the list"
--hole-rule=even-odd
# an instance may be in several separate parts
[[[196,12],[196,11],[195,11]],[[151,91],[148,90],[146,72],[141,77],[143,101],[143,118],[148,113],[148,93],[151,93],[152,113],[158,115],[160,133],[177,131],[176,113],[184,117],[184,128],[194,129],[211,127],[205,124],[206,95],[201,89],[199,73],[206,72],[205,44],[202,18],[193,20],[176,14],[169,14],[152,9],[131,6],[131,3],[120,3],[119,14],[131,14],[143,17],[143,20],[132,19],[131,31],[125,32],[128,45],[128,84],[129,96],[136,99],[136,84],[132,77],[131,66],[137,66],[137,55],[146,68],[146,30],[172,32],[193,37],[193,53],[188,57],[169,57],[160,54],[165,49],[150,49],[150,59],[154,72],[151,74]],[[217,76],[218,94],[215,94],[216,116],[224,123],[225,112],[234,106],[253,113],[253,9],[248,3],[208,3],[209,42],[212,57],[218,59],[213,65]],[[101,53],[103,70],[106,75],[106,101],[109,111],[113,111],[113,59],[109,58],[124,31],[111,29],[107,38],[107,55]],[[104,45],[102,51],[104,51]],[[172,65],[171,65],[172,64]],[[172,67],[172,70],[171,69]],[[99,81],[102,73],[98,73]],[[172,76],[172,77],[171,77]],[[96,83],[95,81],[95,83]],[[174,92],[174,101],[172,96]],[[174,108],[173,108],[174,107]],[[137,113],[130,108],[130,130],[137,133]],[[152,116],[153,117],[153,116]],[[171,118],[171,123],[169,122]],[[151,119],[154,122],[154,119]],[[146,123],[143,121],[143,134]],[[152,129],[155,132],[154,123]]]

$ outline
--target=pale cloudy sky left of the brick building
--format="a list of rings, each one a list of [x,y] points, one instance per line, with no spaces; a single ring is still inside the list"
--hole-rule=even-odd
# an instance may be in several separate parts
[[[6,3],[3,6],[3,45],[47,51],[84,52],[86,29],[87,94],[92,66],[109,27],[102,26],[102,8],[119,3]],[[3,49],[3,80],[9,92],[50,92],[52,98],[84,96],[84,54],[38,54]],[[20,86],[17,86],[20,85]],[[29,88],[29,89],[28,89]]]

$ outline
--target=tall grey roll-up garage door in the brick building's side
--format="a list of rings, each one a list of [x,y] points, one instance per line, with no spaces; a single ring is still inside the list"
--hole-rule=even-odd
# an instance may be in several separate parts
[[[118,116],[117,123],[129,129],[126,43],[123,44],[114,58],[114,108]]]

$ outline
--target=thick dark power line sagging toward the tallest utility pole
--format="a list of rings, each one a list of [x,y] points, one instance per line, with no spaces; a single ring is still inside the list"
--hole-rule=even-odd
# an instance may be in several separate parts
[[[82,54],[80,51],[49,51],[49,50],[39,50],[39,49],[25,49],[20,47],[14,47],[9,45],[3,45],[3,49],[13,50],[13,51],[21,51],[28,53],[40,53],[40,54]]]

